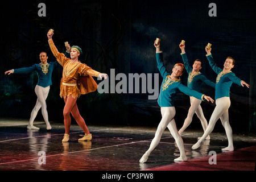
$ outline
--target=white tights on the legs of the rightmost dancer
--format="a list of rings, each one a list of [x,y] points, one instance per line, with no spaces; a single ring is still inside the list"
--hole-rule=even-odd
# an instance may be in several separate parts
[[[221,97],[216,100],[216,107],[210,117],[210,121],[207,129],[204,132],[204,135],[197,141],[197,143],[192,146],[192,149],[200,147],[200,143],[213,131],[214,126],[217,120],[220,118],[221,123],[224,126],[226,131],[226,136],[228,138],[228,147],[222,148],[222,150],[234,150],[233,147],[233,138],[232,138],[232,128],[229,125],[229,107],[230,107],[230,98]]]

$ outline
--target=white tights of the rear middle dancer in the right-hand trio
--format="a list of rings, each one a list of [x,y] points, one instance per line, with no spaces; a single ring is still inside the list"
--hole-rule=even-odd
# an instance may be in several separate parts
[[[208,126],[207,119],[205,119],[202,107],[200,106],[201,102],[202,102],[201,100],[199,100],[199,99],[197,99],[195,97],[190,96],[191,107],[188,110],[188,115],[187,115],[187,118],[184,121],[183,126],[179,130],[179,134],[180,135],[191,124],[192,119],[193,119],[193,115],[195,113],[196,113],[197,117],[201,121],[201,125],[203,126],[203,130],[205,131],[207,129],[207,126]]]

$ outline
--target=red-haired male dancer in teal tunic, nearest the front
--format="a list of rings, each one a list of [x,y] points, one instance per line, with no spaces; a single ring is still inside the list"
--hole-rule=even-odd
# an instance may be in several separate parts
[[[184,150],[183,139],[180,137],[177,131],[176,123],[174,121],[174,116],[176,113],[175,107],[174,107],[175,94],[178,92],[178,90],[180,90],[181,92],[187,94],[188,96],[193,96],[193,97],[196,97],[197,99],[203,100],[204,98],[207,101],[211,101],[211,102],[213,102],[213,100],[209,96],[205,96],[204,94],[201,94],[195,90],[191,90],[187,86],[184,86],[183,84],[181,84],[179,77],[185,71],[183,64],[181,63],[175,64],[174,68],[172,68],[172,73],[168,73],[166,68],[164,68],[164,65],[163,65],[163,53],[162,51],[160,51],[160,43],[156,44],[155,42],[154,46],[156,48],[156,62],[158,63],[158,69],[163,77],[163,82],[162,82],[162,85],[160,88],[160,94],[158,97],[158,104],[161,107],[162,119],[158,125],[158,128],[156,129],[155,137],[154,139],[152,139],[150,147],[142,156],[141,160],[139,160],[139,162],[140,163],[147,162],[148,156],[160,142],[160,139],[166,127],[168,127],[168,129],[170,130],[171,135],[172,137],[174,137],[175,142],[180,150],[180,157],[174,159],[174,161],[175,162],[187,161],[187,156],[185,155],[185,150]]]

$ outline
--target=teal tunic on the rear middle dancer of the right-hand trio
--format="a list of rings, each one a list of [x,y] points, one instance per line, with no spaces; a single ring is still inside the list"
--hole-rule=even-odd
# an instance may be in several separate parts
[[[205,77],[201,72],[192,75],[193,68],[190,67],[188,63],[188,57],[186,53],[181,54],[181,57],[183,59],[185,69],[188,72],[188,88],[196,90],[197,92],[201,92],[201,87],[204,82],[206,85],[215,89],[214,82],[208,80],[208,78]]]

